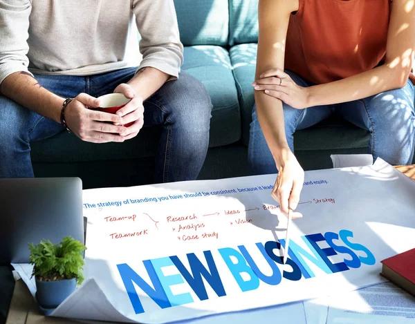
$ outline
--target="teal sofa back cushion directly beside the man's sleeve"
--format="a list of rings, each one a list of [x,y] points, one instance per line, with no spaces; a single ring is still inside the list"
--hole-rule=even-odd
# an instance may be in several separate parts
[[[228,1],[174,0],[174,6],[185,46],[228,44]]]

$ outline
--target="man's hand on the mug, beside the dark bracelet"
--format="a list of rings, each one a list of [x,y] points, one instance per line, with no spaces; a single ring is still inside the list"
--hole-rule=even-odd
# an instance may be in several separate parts
[[[99,106],[99,99],[86,93],[77,95],[65,109],[68,128],[85,142],[124,142],[124,135],[128,134],[128,128],[118,126],[124,124],[122,117],[111,113],[92,111],[88,108],[98,108]]]

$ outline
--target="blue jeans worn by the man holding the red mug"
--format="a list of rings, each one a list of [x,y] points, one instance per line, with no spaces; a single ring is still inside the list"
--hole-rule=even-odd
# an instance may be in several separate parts
[[[44,88],[62,97],[99,97],[128,82],[136,68],[89,77],[35,75]],[[187,73],[166,82],[144,103],[144,126],[161,126],[155,182],[196,179],[209,144],[212,104],[204,86]],[[64,131],[61,124],[0,95],[0,178],[32,178],[30,142]],[[140,136],[140,134],[138,135]],[[122,144],[120,144],[122,145]]]

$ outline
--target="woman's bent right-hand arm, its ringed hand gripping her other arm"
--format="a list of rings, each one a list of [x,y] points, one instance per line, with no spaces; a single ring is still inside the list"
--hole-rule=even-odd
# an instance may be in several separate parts
[[[282,99],[286,104],[295,108],[338,104],[370,97],[387,90],[403,88],[407,84],[414,50],[414,1],[394,0],[392,1],[387,35],[386,60],[382,66],[339,81],[309,88],[296,86],[289,78],[284,80],[282,86],[261,84],[262,82],[257,79],[259,88],[256,90],[262,92],[268,89],[268,95]],[[270,76],[282,77],[283,79],[286,77],[282,69],[278,69],[268,71],[262,79]]]

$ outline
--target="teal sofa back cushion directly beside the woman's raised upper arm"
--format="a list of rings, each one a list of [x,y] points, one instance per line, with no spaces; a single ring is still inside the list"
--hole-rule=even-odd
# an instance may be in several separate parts
[[[257,43],[258,0],[229,0],[229,44]]]

